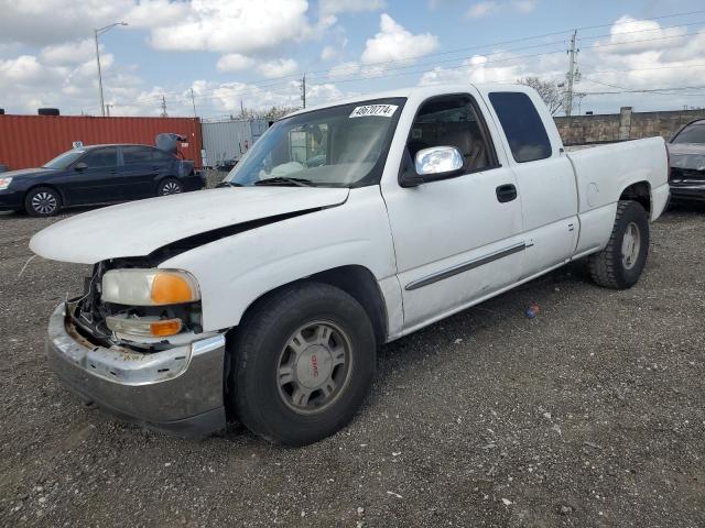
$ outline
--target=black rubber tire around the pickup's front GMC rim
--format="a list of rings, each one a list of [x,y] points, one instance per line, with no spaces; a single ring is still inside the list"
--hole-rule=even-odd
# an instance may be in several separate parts
[[[289,396],[288,386],[282,385],[279,377],[284,369],[282,358],[288,353],[293,358],[289,362],[292,385],[299,383],[300,372],[310,372],[308,359],[313,359],[315,369],[315,353],[295,354],[288,343],[299,329],[317,323],[336,327],[343,332],[340,336],[347,338],[338,340],[349,343],[347,364],[339,365],[346,369],[345,381],[335,389],[337,393],[326,396],[319,392],[321,398],[329,398],[321,408],[311,404],[318,397],[312,396],[311,413],[295,410],[294,397]],[[286,446],[315,442],[347,425],[362,405],[376,370],[377,343],[367,312],[347,293],[322,283],[304,283],[268,296],[246,315],[228,346],[235,359],[228,387],[231,408],[251,431]],[[306,346],[302,349],[308,352],[316,345],[306,343]],[[324,366],[324,353],[319,355],[322,371],[327,369],[339,374],[338,366]],[[316,369],[314,376],[317,375]]]

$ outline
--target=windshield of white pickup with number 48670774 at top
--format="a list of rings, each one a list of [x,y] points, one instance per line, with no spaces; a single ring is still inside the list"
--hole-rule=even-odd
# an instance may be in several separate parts
[[[275,122],[226,185],[358,187],[379,180],[405,99],[313,110]]]

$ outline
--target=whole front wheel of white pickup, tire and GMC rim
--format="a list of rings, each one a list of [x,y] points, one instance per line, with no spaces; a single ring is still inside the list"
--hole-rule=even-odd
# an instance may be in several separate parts
[[[304,446],[343,428],[361,406],[376,366],[365,309],[321,283],[256,306],[230,343],[229,397],[240,421],[274,442]]]

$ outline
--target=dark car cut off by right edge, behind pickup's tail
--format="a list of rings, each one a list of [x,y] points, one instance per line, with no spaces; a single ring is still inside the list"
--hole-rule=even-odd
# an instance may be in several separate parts
[[[668,143],[671,199],[705,201],[705,120],[683,127]]]

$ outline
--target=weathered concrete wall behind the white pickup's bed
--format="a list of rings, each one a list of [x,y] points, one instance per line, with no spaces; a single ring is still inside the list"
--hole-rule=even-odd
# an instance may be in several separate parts
[[[555,118],[565,144],[604,141],[638,140],[660,135],[670,139],[686,123],[705,119],[705,110],[674,110],[666,112],[633,112],[622,107],[619,113]]]

